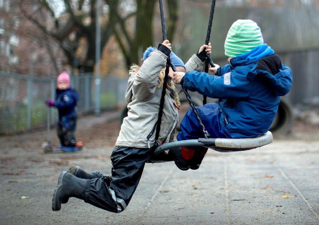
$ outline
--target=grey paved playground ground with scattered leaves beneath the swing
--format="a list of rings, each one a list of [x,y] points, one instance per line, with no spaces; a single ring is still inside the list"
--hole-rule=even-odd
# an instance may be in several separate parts
[[[0,137],[0,224],[319,224],[319,136],[306,126],[259,149],[211,150],[196,171],[180,171],[174,163],[147,164],[120,214],[78,199],[53,212],[60,171],[72,164],[110,171],[118,127],[114,116],[103,116],[112,121],[92,117],[91,127],[81,128],[88,119],[80,120],[81,152],[44,154],[34,147],[45,141],[43,132]]]

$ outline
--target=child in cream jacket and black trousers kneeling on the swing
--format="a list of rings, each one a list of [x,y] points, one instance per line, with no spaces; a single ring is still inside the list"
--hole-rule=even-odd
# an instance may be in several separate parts
[[[207,53],[211,52],[209,46],[202,46],[202,51],[204,48]],[[154,151],[155,132],[149,140],[147,136],[157,122],[167,57],[171,57],[178,70],[202,69],[202,61],[196,55],[184,65],[171,52],[168,40],[159,44],[157,49],[149,47],[143,55],[143,65],[133,65],[129,71],[125,95],[129,111],[111,154],[111,176],[100,172],[88,173],[75,165],[68,172],[61,172],[53,194],[53,211],[60,210],[61,204],[70,197],[114,213],[120,213],[127,207],[142,176],[145,162]],[[169,76],[173,76],[171,68]],[[171,79],[167,81],[159,143],[173,141],[180,106],[178,86]]]

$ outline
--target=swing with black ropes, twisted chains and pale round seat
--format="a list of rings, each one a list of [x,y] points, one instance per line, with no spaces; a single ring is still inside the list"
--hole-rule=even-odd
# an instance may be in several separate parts
[[[214,9],[215,9],[215,2],[216,2],[216,0],[212,0],[210,18],[209,18],[208,29],[207,29],[206,40],[205,40],[206,45],[208,45],[209,39],[210,39],[211,25],[212,25],[212,19],[213,19]],[[163,0],[159,0],[159,8],[160,8],[161,23],[162,23],[163,39],[166,40],[167,35],[166,35],[166,27],[165,27],[165,19],[164,19]],[[209,64],[212,67],[214,67],[211,56],[206,53],[206,58],[205,58],[205,72],[206,73],[208,72]],[[167,59],[164,84],[166,84],[167,78],[168,78],[168,67],[172,67],[173,71],[176,71],[176,68],[174,67],[173,62],[170,60],[170,57],[168,57],[168,59]],[[189,104],[190,104],[193,112],[195,113],[201,127],[203,128],[204,138],[175,141],[175,142],[160,145],[160,144],[158,144],[157,139],[158,139],[159,130],[160,130],[161,117],[162,117],[162,113],[163,113],[162,110],[163,110],[163,105],[164,105],[164,100],[165,100],[165,98],[164,98],[165,89],[166,89],[166,85],[165,85],[165,87],[163,86],[163,92],[162,92],[162,97],[161,97],[160,107],[159,107],[158,122],[155,124],[151,133],[147,137],[149,140],[149,137],[151,137],[153,135],[153,133],[155,131],[155,127],[156,127],[155,144],[153,146],[153,148],[155,149],[154,155],[157,155],[160,152],[163,152],[163,151],[166,151],[169,149],[173,149],[176,147],[186,147],[186,146],[190,146],[190,147],[191,146],[203,146],[203,147],[207,147],[207,148],[213,149],[215,151],[219,151],[219,152],[246,151],[246,150],[250,150],[250,149],[264,146],[266,144],[270,144],[273,140],[273,137],[272,137],[272,134],[270,131],[268,131],[265,134],[260,135],[258,137],[252,137],[252,138],[209,138],[210,134],[207,132],[204,124],[202,123],[202,120],[197,112],[197,109],[195,108],[194,102],[192,101],[187,89],[183,87],[183,92],[185,93],[186,98],[189,100]],[[206,104],[206,96],[204,96],[203,104]]]

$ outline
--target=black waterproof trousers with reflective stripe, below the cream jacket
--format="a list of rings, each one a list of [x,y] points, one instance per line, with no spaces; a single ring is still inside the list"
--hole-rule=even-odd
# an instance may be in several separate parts
[[[129,204],[152,152],[148,148],[115,147],[111,155],[111,176],[95,172],[94,179],[87,179],[85,202],[114,213],[122,212]]]

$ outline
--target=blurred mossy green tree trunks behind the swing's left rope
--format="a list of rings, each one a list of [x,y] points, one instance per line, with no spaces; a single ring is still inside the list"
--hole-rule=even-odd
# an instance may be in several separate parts
[[[116,0],[105,0],[110,7],[110,27],[115,34],[116,40],[121,48],[127,67],[132,63],[140,61],[139,52],[154,42],[153,36],[153,18],[154,9],[157,0],[136,0],[136,10],[131,12],[135,15],[134,24],[125,24],[127,17],[120,13],[121,3]],[[176,21],[178,18],[178,1],[167,1],[168,21],[167,21],[167,38],[172,41]]]

